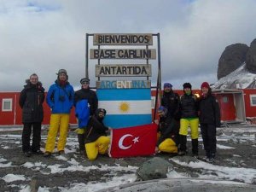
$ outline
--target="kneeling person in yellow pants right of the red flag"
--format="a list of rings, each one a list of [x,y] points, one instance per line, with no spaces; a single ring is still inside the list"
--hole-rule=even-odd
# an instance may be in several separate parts
[[[155,154],[165,152],[177,154],[178,124],[175,119],[167,116],[167,108],[160,106],[158,115],[160,117],[158,125],[158,141],[155,147]]]

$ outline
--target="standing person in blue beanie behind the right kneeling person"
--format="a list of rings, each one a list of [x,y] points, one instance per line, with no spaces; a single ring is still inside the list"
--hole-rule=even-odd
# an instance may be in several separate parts
[[[164,93],[161,98],[161,105],[167,108],[167,116],[174,118],[179,122],[180,113],[179,113],[179,96],[177,93],[173,92],[172,84],[164,84]]]

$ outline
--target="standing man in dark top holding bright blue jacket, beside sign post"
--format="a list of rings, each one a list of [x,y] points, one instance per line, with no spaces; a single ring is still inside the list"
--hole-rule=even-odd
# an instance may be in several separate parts
[[[94,115],[98,108],[98,97],[94,90],[90,90],[90,79],[80,80],[81,89],[74,95],[74,106],[76,108],[76,117],[79,120],[78,139],[80,154],[84,154],[84,130],[88,124],[90,116]]]

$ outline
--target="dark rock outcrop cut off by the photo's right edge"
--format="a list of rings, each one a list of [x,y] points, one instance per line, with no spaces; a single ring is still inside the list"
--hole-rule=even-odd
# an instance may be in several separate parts
[[[250,45],[246,55],[247,69],[250,73],[256,73],[256,38]]]

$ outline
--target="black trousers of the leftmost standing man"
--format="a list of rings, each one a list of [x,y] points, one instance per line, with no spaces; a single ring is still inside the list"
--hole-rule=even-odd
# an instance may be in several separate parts
[[[32,145],[30,145],[30,137],[32,133]],[[22,151],[38,151],[41,142],[41,122],[24,123],[22,131]]]

